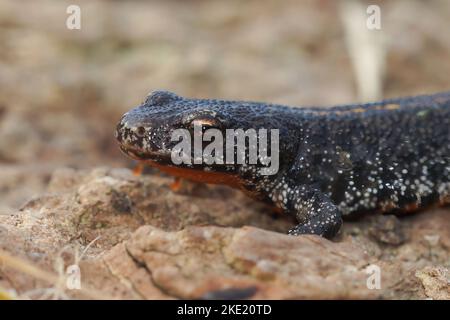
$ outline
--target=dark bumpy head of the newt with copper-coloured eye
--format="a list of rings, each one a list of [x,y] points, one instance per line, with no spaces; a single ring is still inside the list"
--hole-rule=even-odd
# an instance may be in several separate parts
[[[252,171],[252,166],[243,166],[242,163],[239,163],[237,152],[234,152],[235,159],[231,162],[226,157],[228,141],[226,137],[230,131],[228,129],[235,131],[240,129],[244,132],[247,132],[248,129],[256,132],[259,132],[259,129],[286,131],[285,125],[280,125],[281,122],[278,121],[279,118],[274,111],[278,111],[278,108],[258,103],[187,99],[171,92],[155,91],[146,98],[142,105],[130,110],[122,117],[117,125],[116,138],[124,153],[137,160],[147,160],[158,167],[195,169],[197,172],[201,170],[205,173],[237,173],[246,167],[244,171],[249,172]],[[213,134],[209,140],[206,138],[207,131]],[[177,135],[180,132],[185,135]],[[267,134],[270,139],[271,133]],[[203,152],[211,151],[211,148],[207,148],[211,147],[211,143],[216,141],[217,136],[223,138],[223,162],[208,163],[205,161]],[[187,141],[187,138],[189,140],[186,144],[184,142]],[[248,156],[251,140],[249,137],[244,139],[246,142],[243,150],[244,154]],[[197,141],[197,145],[195,141]],[[200,141],[199,144],[198,141]],[[180,142],[184,143],[181,153],[179,152]],[[266,152],[269,156],[271,153],[270,143],[270,140],[267,141],[269,150]],[[199,145],[201,147],[200,159],[199,154],[196,153]],[[214,149],[208,154],[218,159],[217,150],[219,149]],[[178,160],[181,159],[181,162],[174,161],[174,153],[178,154]],[[267,166],[267,164],[259,164],[259,166]],[[248,170],[249,167],[251,167],[250,170]]]

